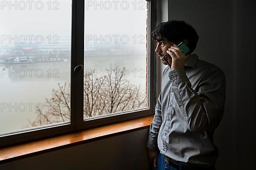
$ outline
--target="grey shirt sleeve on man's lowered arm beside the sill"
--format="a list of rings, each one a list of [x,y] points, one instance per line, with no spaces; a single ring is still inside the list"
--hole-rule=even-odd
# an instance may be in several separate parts
[[[162,124],[161,104],[162,104],[162,92],[160,93],[160,95],[157,99],[157,105],[155,107],[154,118],[149,127],[147,147],[151,150],[158,150],[157,137],[158,137],[160,126]]]

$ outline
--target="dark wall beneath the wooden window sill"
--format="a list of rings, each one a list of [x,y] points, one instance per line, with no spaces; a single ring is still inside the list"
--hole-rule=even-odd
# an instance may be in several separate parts
[[[0,164],[0,170],[146,170],[148,129]]]

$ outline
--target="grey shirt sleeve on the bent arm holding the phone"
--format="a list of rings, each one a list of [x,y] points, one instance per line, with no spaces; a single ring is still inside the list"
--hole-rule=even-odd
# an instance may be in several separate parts
[[[197,91],[192,89],[184,70],[170,71],[169,79],[188,129],[191,132],[214,130],[223,116],[226,98],[223,71],[215,69],[200,77]]]

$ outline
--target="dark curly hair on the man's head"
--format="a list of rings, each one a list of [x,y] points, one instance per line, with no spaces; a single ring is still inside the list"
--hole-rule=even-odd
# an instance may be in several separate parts
[[[160,23],[157,28],[152,32],[152,39],[154,41],[161,41],[166,38],[169,42],[178,44],[182,40],[188,40],[188,47],[190,53],[195,50],[198,42],[198,34],[195,29],[185,21],[169,20]]]

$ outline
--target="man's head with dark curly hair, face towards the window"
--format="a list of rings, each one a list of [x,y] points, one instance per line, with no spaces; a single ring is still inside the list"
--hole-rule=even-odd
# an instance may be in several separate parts
[[[190,48],[189,53],[192,53],[198,42],[198,34],[191,25],[184,21],[169,20],[157,26],[152,32],[152,39],[157,42],[155,49],[157,55],[163,57],[168,48],[180,42],[184,42]],[[163,60],[162,62],[167,64]]]

